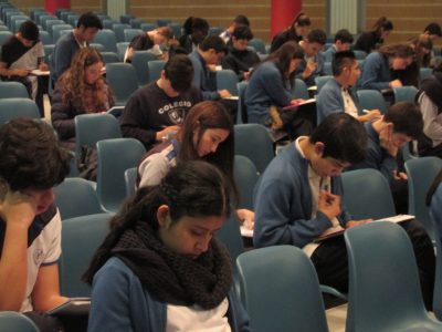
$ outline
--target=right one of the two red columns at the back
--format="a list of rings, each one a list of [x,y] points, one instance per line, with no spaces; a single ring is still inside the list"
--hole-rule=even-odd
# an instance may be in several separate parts
[[[272,0],[272,38],[292,23],[302,4],[302,0]]]

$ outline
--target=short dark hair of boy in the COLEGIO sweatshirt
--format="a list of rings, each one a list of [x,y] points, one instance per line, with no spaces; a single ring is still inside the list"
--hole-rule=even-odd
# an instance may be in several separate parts
[[[193,80],[193,65],[185,54],[175,54],[166,62],[165,76],[177,92],[188,90]]]

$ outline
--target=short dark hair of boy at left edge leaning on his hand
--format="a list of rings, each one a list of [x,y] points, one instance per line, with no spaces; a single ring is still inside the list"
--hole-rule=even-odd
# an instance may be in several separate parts
[[[0,128],[0,178],[11,190],[50,189],[70,172],[72,155],[43,121],[15,118]]]

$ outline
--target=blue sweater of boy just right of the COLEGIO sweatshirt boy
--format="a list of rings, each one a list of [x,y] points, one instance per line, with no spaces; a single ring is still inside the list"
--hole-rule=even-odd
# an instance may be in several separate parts
[[[194,50],[189,55],[193,65],[193,82],[192,84],[201,90],[204,101],[218,101],[220,94],[217,91],[217,80],[214,73],[207,69],[204,59]]]

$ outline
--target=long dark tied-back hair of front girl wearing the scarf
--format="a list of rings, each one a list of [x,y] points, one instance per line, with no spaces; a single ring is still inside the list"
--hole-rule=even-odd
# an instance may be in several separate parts
[[[110,219],[110,230],[95,252],[83,280],[92,283],[94,274],[112,257],[122,235],[141,220],[158,230],[157,211],[169,207],[170,219],[230,215],[230,181],[218,167],[201,160],[181,163],[172,167],[157,186],[137,190]]]

